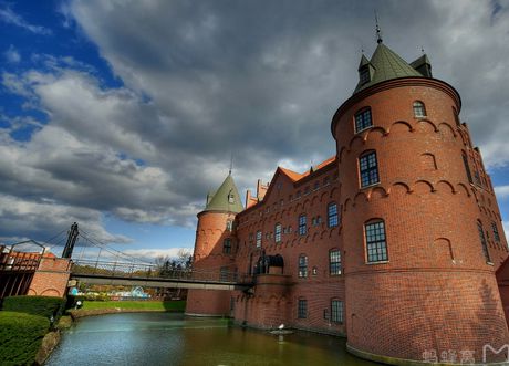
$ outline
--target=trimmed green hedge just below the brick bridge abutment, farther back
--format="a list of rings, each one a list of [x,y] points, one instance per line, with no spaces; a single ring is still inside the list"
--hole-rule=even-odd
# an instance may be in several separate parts
[[[52,296],[10,296],[3,300],[2,309],[56,320],[62,314],[65,300]]]

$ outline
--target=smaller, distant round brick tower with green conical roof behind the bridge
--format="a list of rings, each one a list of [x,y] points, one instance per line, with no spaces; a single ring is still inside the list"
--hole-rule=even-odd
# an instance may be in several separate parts
[[[207,195],[207,205],[198,213],[193,270],[196,279],[230,280],[236,273],[235,217],[242,211],[239,191],[231,174],[219,189]],[[230,296],[220,290],[189,290],[186,314],[229,315]]]

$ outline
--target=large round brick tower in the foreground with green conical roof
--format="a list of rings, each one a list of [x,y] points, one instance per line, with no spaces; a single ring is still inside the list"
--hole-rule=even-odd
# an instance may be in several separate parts
[[[498,352],[509,333],[476,198],[492,188],[470,182],[459,94],[432,77],[426,55],[408,64],[381,39],[359,72],[331,127],[349,351],[388,364],[482,363],[485,345]],[[488,363],[507,359],[487,351]]]

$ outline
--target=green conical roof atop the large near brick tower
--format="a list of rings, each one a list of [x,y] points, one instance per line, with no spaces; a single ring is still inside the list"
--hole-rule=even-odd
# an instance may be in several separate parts
[[[366,61],[361,59],[361,65],[366,64]],[[382,42],[378,43],[373,56],[371,57],[370,64],[374,69],[374,74],[371,77],[370,82],[361,84],[359,82],[355,87],[354,94],[359,91],[362,91],[372,85],[385,82],[387,80],[397,79],[397,77],[423,77],[417,70],[412,67],[405,60],[399,57],[395,52],[388,49]]]

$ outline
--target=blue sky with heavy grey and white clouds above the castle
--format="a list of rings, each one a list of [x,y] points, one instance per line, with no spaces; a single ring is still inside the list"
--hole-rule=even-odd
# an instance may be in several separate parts
[[[245,191],[335,153],[374,9],[459,91],[509,220],[507,1],[0,1],[0,242],[77,221],[145,258],[191,248],[231,154]]]

